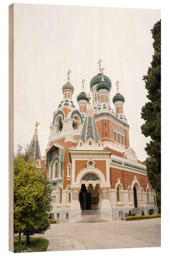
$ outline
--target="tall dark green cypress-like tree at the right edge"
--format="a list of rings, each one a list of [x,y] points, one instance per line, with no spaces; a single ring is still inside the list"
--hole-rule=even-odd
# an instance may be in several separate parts
[[[156,191],[158,208],[161,202],[161,20],[151,30],[154,39],[154,55],[148,74],[143,76],[149,101],[142,106],[142,134],[151,137],[145,151],[149,155],[146,160],[148,178]]]

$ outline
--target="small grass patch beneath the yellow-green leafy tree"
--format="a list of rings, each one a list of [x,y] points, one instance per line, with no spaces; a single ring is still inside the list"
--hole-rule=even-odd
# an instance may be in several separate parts
[[[14,252],[18,252],[19,248],[19,237],[14,236]],[[21,250],[25,250],[26,252],[34,252],[34,251],[46,251],[49,241],[44,238],[33,238],[30,237],[30,245],[26,245],[26,237],[21,237]],[[22,251],[21,251],[22,252]]]

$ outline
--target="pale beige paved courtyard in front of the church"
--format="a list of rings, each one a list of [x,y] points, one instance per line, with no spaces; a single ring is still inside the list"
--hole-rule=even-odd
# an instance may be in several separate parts
[[[52,224],[43,237],[48,251],[159,247],[161,218],[135,221]]]

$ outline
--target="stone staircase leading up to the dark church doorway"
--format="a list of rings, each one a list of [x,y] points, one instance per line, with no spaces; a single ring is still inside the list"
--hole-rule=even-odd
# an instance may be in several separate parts
[[[103,222],[107,221],[101,217],[100,212],[96,210],[82,210],[81,219],[76,222]]]

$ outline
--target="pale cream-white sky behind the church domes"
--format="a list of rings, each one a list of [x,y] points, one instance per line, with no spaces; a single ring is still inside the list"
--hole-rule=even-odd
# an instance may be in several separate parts
[[[89,83],[98,74],[101,58],[104,74],[112,82],[111,102],[119,80],[130,146],[144,161],[149,139],[140,130],[144,122],[141,107],[147,101],[142,76],[152,61],[151,29],[160,19],[160,11],[15,4],[14,13],[14,151],[17,144],[31,142],[38,121],[44,156],[67,70],[71,70],[72,99],[78,108],[81,81],[85,78],[85,91],[90,92]]]

